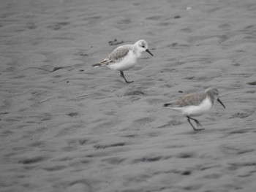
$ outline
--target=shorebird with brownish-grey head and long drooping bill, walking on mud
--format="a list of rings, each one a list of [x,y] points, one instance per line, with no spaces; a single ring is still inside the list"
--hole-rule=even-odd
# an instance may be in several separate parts
[[[222,104],[222,101],[219,100],[218,94],[219,92],[217,88],[208,88],[205,93],[191,93],[181,99],[178,99],[178,101],[164,104],[164,106],[181,112],[182,115],[187,117],[192,128],[195,131],[200,131],[203,128],[195,128],[190,122],[190,119],[195,120],[198,127],[201,126],[198,120],[191,117],[203,115],[213,107],[216,101],[219,101],[219,103]],[[222,104],[222,106],[226,108],[224,104]]]

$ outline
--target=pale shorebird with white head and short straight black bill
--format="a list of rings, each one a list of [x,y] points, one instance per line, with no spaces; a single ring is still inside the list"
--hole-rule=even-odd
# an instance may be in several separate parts
[[[141,54],[144,52],[148,52],[153,56],[148,50],[148,43],[145,40],[139,40],[138,42],[135,42],[134,45],[121,45],[120,47],[117,47],[103,61],[92,66],[108,66],[110,69],[119,71],[125,82],[133,82],[127,81],[123,71],[135,66],[137,59],[140,58]]]

